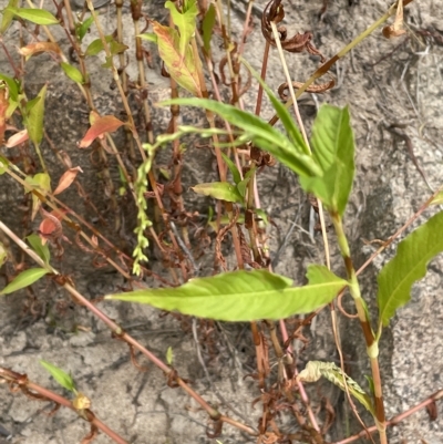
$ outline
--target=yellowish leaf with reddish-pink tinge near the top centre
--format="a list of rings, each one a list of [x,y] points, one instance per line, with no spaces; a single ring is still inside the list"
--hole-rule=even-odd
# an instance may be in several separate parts
[[[153,30],[157,35],[159,56],[165,62],[171,76],[186,91],[202,97],[200,81],[190,47],[188,45],[185,55],[182,55],[179,35],[175,29],[153,22]]]

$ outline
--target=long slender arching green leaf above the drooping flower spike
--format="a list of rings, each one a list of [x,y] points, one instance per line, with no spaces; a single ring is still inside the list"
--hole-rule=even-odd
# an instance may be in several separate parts
[[[279,162],[295,173],[302,176],[321,176],[322,171],[310,155],[300,153],[280,131],[257,117],[255,114],[238,110],[233,105],[207,99],[174,99],[162,102],[159,105],[189,105],[204,107],[220,115],[227,122],[241,128],[246,138],[268,151]]]

